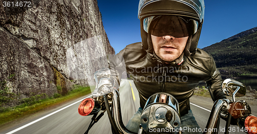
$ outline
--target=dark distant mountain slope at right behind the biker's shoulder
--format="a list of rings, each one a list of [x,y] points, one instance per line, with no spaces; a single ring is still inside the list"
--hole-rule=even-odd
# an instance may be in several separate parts
[[[257,27],[203,48],[223,76],[257,76]]]

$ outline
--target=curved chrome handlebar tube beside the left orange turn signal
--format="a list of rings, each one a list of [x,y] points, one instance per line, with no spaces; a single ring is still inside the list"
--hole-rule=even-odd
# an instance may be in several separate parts
[[[119,133],[121,134],[128,134],[128,133],[134,133],[128,130],[123,122],[121,117],[121,109],[120,109],[120,94],[117,90],[113,91],[113,105],[112,105],[112,111],[113,111],[113,119],[116,124],[116,127],[118,128]]]

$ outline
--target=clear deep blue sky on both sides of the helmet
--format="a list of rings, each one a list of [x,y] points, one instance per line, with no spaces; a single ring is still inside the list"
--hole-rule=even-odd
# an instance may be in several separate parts
[[[128,44],[141,42],[138,3],[139,0],[98,0],[105,32],[116,53]],[[205,1],[205,20],[198,48],[257,27],[256,6],[256,0]]]

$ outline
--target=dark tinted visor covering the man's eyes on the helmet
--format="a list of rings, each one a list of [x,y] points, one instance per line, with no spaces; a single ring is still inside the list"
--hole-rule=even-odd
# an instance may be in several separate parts
[[[197,32],[198,22],[184,16],[150,16],[144,18],[143,29],[154,36],[186,37]]]

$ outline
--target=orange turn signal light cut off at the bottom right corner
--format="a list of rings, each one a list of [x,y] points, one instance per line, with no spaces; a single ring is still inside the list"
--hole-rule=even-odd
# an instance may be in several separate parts
[[[249,116],[245,119],[245,128],[249,134],[257,133],[257,117]]]

